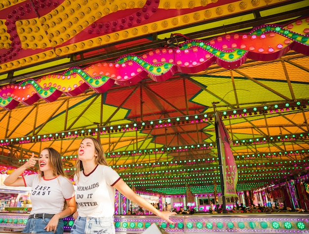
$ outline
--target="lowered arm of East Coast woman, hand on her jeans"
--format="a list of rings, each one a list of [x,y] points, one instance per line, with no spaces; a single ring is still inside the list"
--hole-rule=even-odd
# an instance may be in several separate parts
[[[54,231],[54,233],[57,230],[57,226],[59,223],[59,219],[63,219],[71,214],[73,214],[74,212],[76,212],[77,208],[76,208],[76,202],[75,202],[75,197],[66,200],[67,202],[67,208],[64,209],[63,211],[61,211],[58,214],[55,214],[51,220],[48,222],[48,224],[46,225],[46,227],[44,229],[46,229],[47,232],[51,232]]]

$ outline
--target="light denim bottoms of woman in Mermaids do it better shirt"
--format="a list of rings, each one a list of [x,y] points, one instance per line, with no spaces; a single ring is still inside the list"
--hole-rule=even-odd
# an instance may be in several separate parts
[[[114,217],[77,217],[71,234],[115,234]]]

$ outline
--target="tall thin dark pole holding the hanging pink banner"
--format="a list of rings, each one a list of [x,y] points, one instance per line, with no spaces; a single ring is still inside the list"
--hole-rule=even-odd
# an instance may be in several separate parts
[[[218,120],[217,120],[217,112],[216,112],[216,104],[219,102],[212,102],[214,107],[214,118],[215,118],[215,130],[216,130],[216,142],[217,142],[217,149],[218,149],[218,158],[219,158],[219,171],[220,171],[220,185],[221,185],[221,192],[222,192],[222,213],[228,213],[226,201],[225,201],[225,194],[224,194],[224,176],[223,176],[223,168],[222,168],[222,149],[221,149],[221,134],[219,134],[218,130]]]

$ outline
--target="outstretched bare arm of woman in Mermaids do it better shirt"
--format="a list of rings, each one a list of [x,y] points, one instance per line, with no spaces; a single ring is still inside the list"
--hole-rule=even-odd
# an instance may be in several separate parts
[[[169,211],[159,211],[157,210],[151,203],[146,201],[141,196],[134,193],[134,191],[122,180],[120,179],[114,187],[118,190],[122,195],[124,195],[127,199],[139,204],[140,206],[144,207],[145,209],[151,211],[155,215],[159,216],[160,218],[166,220],[170,224],[174,224],[173,221],[169,219],[171,215],[176,215],[176,212],[169,212]]]

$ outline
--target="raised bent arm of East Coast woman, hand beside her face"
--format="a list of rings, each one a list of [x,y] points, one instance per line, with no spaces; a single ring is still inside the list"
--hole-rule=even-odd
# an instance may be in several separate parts
[[[24,179],[19,177],[27,168],[34,167],[37,163],[35,154],[32,153],[31,158],[21,167],[15,169],[9,176],[6,177],[3,184],[6,186],[25,186]]]

